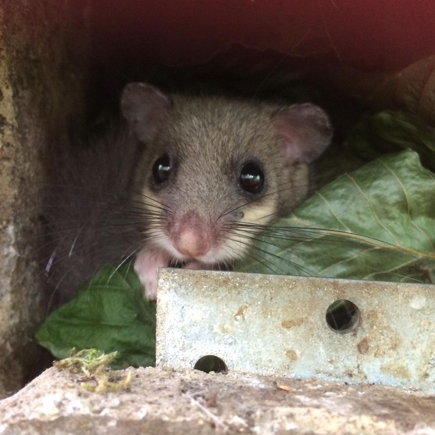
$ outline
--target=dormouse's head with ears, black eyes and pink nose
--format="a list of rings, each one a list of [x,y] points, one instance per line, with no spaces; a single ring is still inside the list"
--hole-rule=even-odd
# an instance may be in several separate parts
[[[332,137],[313,104],[165,95],[132,83],[121,109],[145,145],[144,239],[181,262],[230,265],[244,257],[264,225],[305,197],[307,165]]]

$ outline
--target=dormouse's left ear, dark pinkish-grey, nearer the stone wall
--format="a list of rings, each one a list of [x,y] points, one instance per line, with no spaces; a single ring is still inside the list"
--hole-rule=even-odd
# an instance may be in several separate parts
[[[171,100],[156,87],[129,83],[121,95],[121,111],[137,139],[149,141],[171,107]]]

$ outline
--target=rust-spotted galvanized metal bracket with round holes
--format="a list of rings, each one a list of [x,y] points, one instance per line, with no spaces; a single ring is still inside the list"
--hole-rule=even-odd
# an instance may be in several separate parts
[[[335,325],[339,300],[354,305],[338,303]],[[433,391],[435,287],[161,269],[157,365],[194,368],[204,355],[231,371]]]

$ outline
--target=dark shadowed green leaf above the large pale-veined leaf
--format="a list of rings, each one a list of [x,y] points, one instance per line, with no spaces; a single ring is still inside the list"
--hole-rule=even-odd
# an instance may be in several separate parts
[[[422,163],[435,171],[435,131],[420,118],[395,110],[365,117],[353,129],[345,146],[372,160],[384,153],[411,148]]]

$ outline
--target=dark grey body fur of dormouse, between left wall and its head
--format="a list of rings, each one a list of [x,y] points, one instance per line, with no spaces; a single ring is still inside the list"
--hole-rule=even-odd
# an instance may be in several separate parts
[[[69,143],[48,157],[44,242],[40,263],[54,305],[74,296],[105,263],[140,248],[131,208],[141,148],[125,126],[109,127],[89,144]]]

